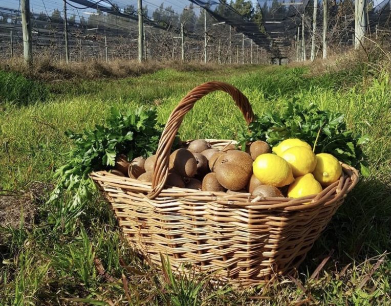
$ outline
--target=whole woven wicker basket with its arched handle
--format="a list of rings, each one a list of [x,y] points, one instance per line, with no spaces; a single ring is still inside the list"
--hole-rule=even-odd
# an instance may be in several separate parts
[[[247,124],[253,112],[247,98],[233,86],[208,82],[190,91],[171,113],[157,150],[152,183],[100,171],[91,174],[111,202],[125,236],[150,260],[161,265],[168,255],[175,270],[191,263],[212,271],[216,280],[250,286],[276,274],[294,273],[316,238],[357,184],[356,169],[342,164],[343,174],[319,194],[300,199],[254,198],[165,188],[171,145],[183,117],[210,92],[231,95]],[[223,148],[230,140],[208,140]]]

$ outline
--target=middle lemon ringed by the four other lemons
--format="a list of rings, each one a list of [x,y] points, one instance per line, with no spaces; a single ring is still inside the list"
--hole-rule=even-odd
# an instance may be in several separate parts
[[[308,147],[291,147],[285,150],[280,157],[292,167],[293,177],[301,177],[315,170],[316,156]]]

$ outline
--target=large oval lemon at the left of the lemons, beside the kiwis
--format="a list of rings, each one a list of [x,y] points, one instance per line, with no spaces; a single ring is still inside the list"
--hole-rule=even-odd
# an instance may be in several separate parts
[[[271,153],[259,155],[252,164],[252,170],[254,176],[266,185],[283,187],[294,181],[288,162]]]

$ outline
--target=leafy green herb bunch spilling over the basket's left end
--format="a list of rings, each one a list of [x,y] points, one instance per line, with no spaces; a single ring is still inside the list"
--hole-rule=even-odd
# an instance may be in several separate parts
[[[89,178],[92,171],[112,168],[118,154],[126,154],[129,160],[154,154],[162,129],[156,110],[140,107],[125,113],[112,108],[104,125],[85,129],[80,134],[66,132],[75,146],[67,153],[67,164],[54,174],[58,182],[50,201],[66,190],[72,193],[73,205],[78,206],[95,190]]]

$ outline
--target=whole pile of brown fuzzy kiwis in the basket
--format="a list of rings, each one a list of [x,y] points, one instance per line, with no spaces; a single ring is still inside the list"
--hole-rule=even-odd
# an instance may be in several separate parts
[[[169,159],[166,187],[198,189],[233,193],[251,193],[259,198],[284,196],[276,187],[265,185],[252,173],[252,163],[261,154],[270,153],[264,141],[254,141],[246,152],[229,144],[221,150],[212,148],[203,139],[193,140],[187,148],[173,151]],[[147,159],[135,158],[129,162],[124,155],[116,158],[115,169],[119,176],[152,182],[156,155]]]

